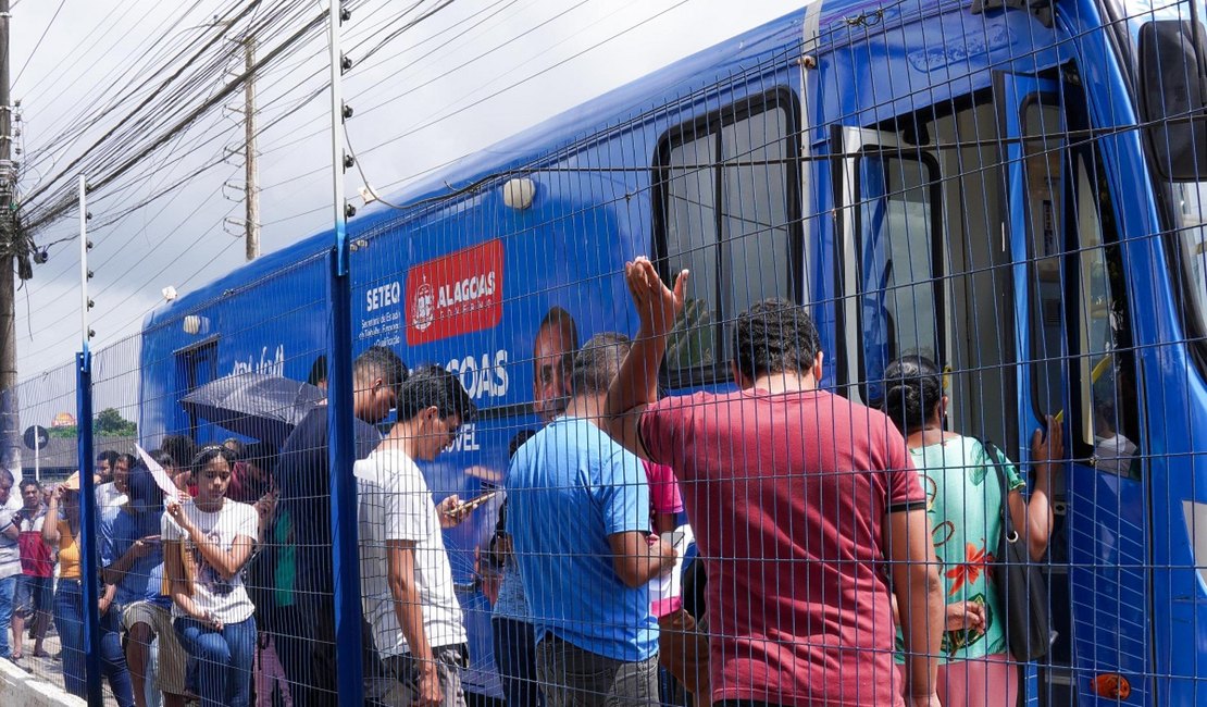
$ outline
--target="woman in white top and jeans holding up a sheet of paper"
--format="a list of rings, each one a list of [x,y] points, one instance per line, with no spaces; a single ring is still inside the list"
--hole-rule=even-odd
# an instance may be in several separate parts
[[[255,607],[239,575],[256,543],[256,509],[226,497],[234,456],[206,446],[193,458],[197,497],[163,519],[173,625],[198,661],[202,707],[246,707],[256,650]]]

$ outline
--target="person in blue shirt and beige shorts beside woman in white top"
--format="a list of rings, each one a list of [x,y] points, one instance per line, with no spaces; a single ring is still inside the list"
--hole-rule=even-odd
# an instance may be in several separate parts
[[[126,661],[134,684],[134,703],[138,707],[148,703],[151,642],[158,639],[156,686],[163,693],[165,707],[183,707],[187,658],[171,629],[171,600],[163,594],[159,542],[163,491],[141,466],[130,472],[128,489],[129,502],[112,524],[101,524],[101,573],[106,584],[117,586],[109,615],[115,623],[119,620],[128,633]]]

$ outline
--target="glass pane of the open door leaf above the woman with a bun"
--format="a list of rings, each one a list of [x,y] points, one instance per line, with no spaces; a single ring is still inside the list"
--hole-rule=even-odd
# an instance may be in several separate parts
[[[861,252],[861,379],[864,399],[881,398],[885,367],[920,355],[943,366],[940,255],[935,249],[938,165],[873,152],[857,166]]]

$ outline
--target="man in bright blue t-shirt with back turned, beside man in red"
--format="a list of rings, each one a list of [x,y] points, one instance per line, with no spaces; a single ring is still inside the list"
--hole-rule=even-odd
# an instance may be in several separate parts
[[[575,356],[573,397],[515,452],[508,530],[550,707],[657,705],[658,621],[648,583],[674,549],[651,534],[641,460],[597,423],[631,343],[597,334]]]

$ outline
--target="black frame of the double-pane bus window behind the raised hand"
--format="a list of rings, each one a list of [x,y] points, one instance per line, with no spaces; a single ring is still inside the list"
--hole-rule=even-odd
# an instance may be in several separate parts
[[[800,304],[804,297],[804,221],[800,193],[800,170],[803,163],[800,159],[800,103],[797,100],[795,92],[788,87],[777,86],[762,93],[744,97],[702,116],[678,123],[664,132],[658,139],[654,150],[654,160],[651,164],[651,212],[653,221],[651,251],[654,253],[654,265],[664,282],[670,282],[672,276],[669,264],[670,253],[666,236],[671,151],[706,135],[713,135],[718,147],[718,159],[713,162],[711,168],[715,170],[713,223],[716,226],[717,240],[713,246],[710,246],[716,247],[718,251],[716,265],[717,285],[712,297],[716,298],[716,311],[719,316],[716,322],[710,325],[716,332],[715,340],[718,356],[711,364],[700,364],[675,370],[671,370],[666,362],[663,361],[660,378],[663,384],[671,388],[712,385],[728,381],[731,378],[729,370],[730,362],[724,357],[725,323],[731,321],[739,312],[724,310],[728,306],[729,298],[727,297],[727,292],[724,292],[725,279],[722,276],[722,268],[727,268],[728,265],[719,252],[724,244],[722,222],[724,220],[723,170],[725,168],[725,160],[719,158],[719,156],[724,154],[721,144],[721,133],[724,128],[734,123],[772,110],[782,110],[786,118],[783,140],[787,141],[785,160],[788,169],[786,170],[785,179],[785,195],[787,198],[787,222],[785,227],[788,230],[789,239],[788,252],[791,262],[788,263],[788,279],[792,287],[789,296],[794,303]]]

